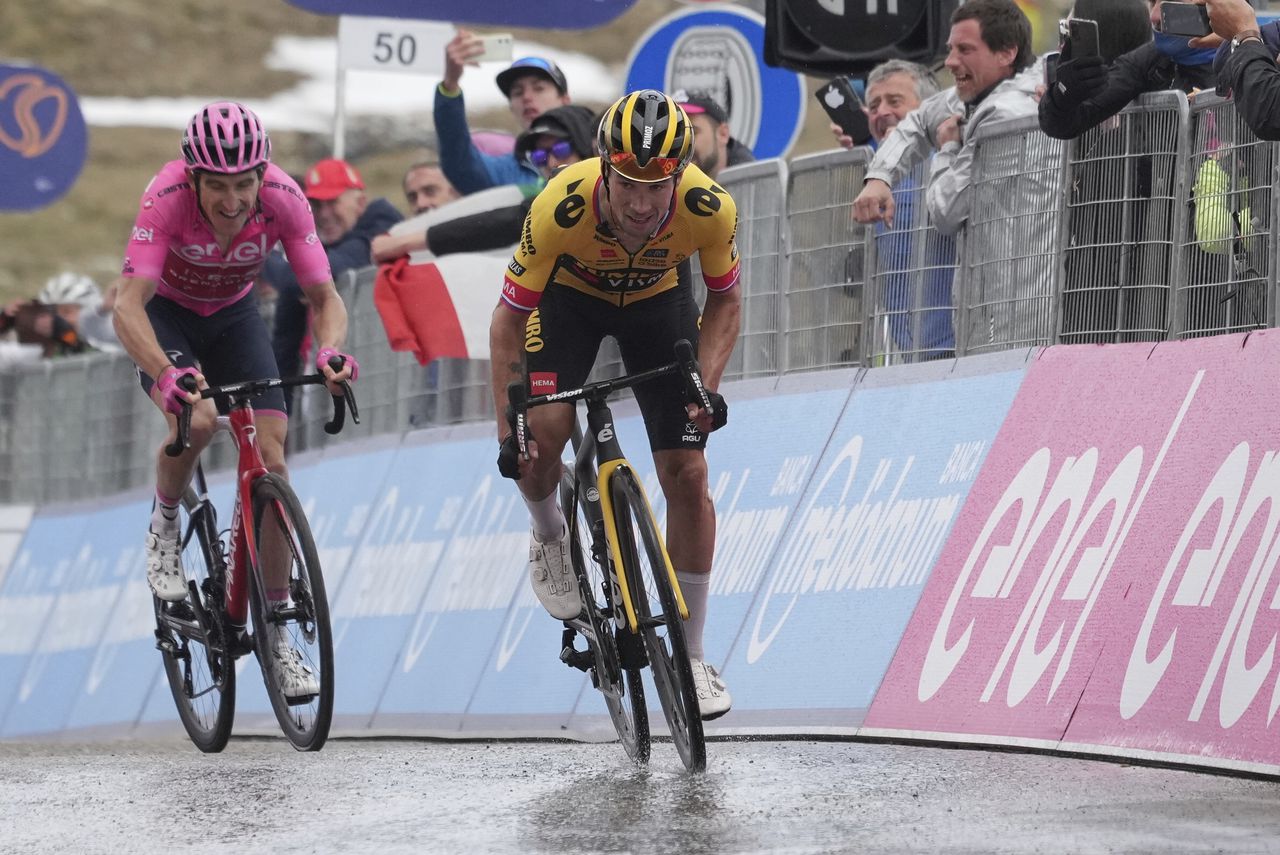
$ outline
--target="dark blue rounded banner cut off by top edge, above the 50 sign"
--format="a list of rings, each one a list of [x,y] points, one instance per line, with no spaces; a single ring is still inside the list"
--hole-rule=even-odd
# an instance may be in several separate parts
[[[504,27],[586,29],[607,24],[631,8],[635,0],[289,0],[323,15],[367,15],[413,18]]]

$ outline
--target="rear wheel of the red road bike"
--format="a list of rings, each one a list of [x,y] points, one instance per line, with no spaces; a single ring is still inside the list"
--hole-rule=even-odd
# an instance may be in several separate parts
[[[236,718],[236,657],[229,653],[229,627],[223,611],[227,570],[212,506],[200,504],[195,491],[187,490],[183,507],[187,527],[182,563],[188,579],[196,582],[201,602],[193,607],[189,596],[180,603],[152,596],[156,639],[187,736],[201,751],[216,754],[227,747]],[[205,614],[207,635],[200,631],[195,608]],[[174,619],[165,619],[166,616]],[[179,630],[179,625],[192,628]]]

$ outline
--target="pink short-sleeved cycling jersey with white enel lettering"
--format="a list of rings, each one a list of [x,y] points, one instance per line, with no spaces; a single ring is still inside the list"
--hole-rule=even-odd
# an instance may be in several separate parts
[[[202,316],[248,293],[276,241],[284,244],[298,284],[332,279],[311,206],[275,164],[266,166],[257,201],[257,210],[223,252],[200,212],[184,161],[169,161],[142,192],[124,275],[154,279],[157,294]]]

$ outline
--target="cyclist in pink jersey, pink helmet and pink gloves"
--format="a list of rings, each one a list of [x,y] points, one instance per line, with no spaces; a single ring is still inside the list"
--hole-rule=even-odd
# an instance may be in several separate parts
[[[191,448],[178,457],[163,448],[156,454],[156,500],[146,539],[147,581],[156,596],[170,602],[187,595],[178,503],[218,416],[211,401],[186,392],[179,379],[193,375],[198,384],[205,378],[225,384],[276,376],[252,292],[278,241],[315,310],[316,364],[329,390],[340,394],[338,384],[358,372],[356,361],[339,352],[347,310],[311,209],[293,179],[270,163],[271,143],[257,115],[232,101],[207,105],[188,123],[182,155],[142,193],[115,303],[120,343],[138,366],[143,390],[165,413],[170,434],[182,404],[193,407]],[[338,372],[328,365],[332,356],[344,360]],[[262,458],[270,471],[284,475],[283,394],[273,389],[253,408]],[[287,591],[268,595],[284,599]]]

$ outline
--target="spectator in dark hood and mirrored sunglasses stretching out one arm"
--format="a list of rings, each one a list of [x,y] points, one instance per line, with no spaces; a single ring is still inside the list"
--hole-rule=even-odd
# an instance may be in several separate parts
[[[515,244],[545,179],[561,166],[595,155],[595,125],[594,114],[584,106],[568,104],[548,110],[516,140],[515,155],[541,173],[538,183],[525,186],[525,200],[520,205],[433,223],[403,234],[380,234],[372,242],[374,261],[385,264],[420,250],[448,255]]]

